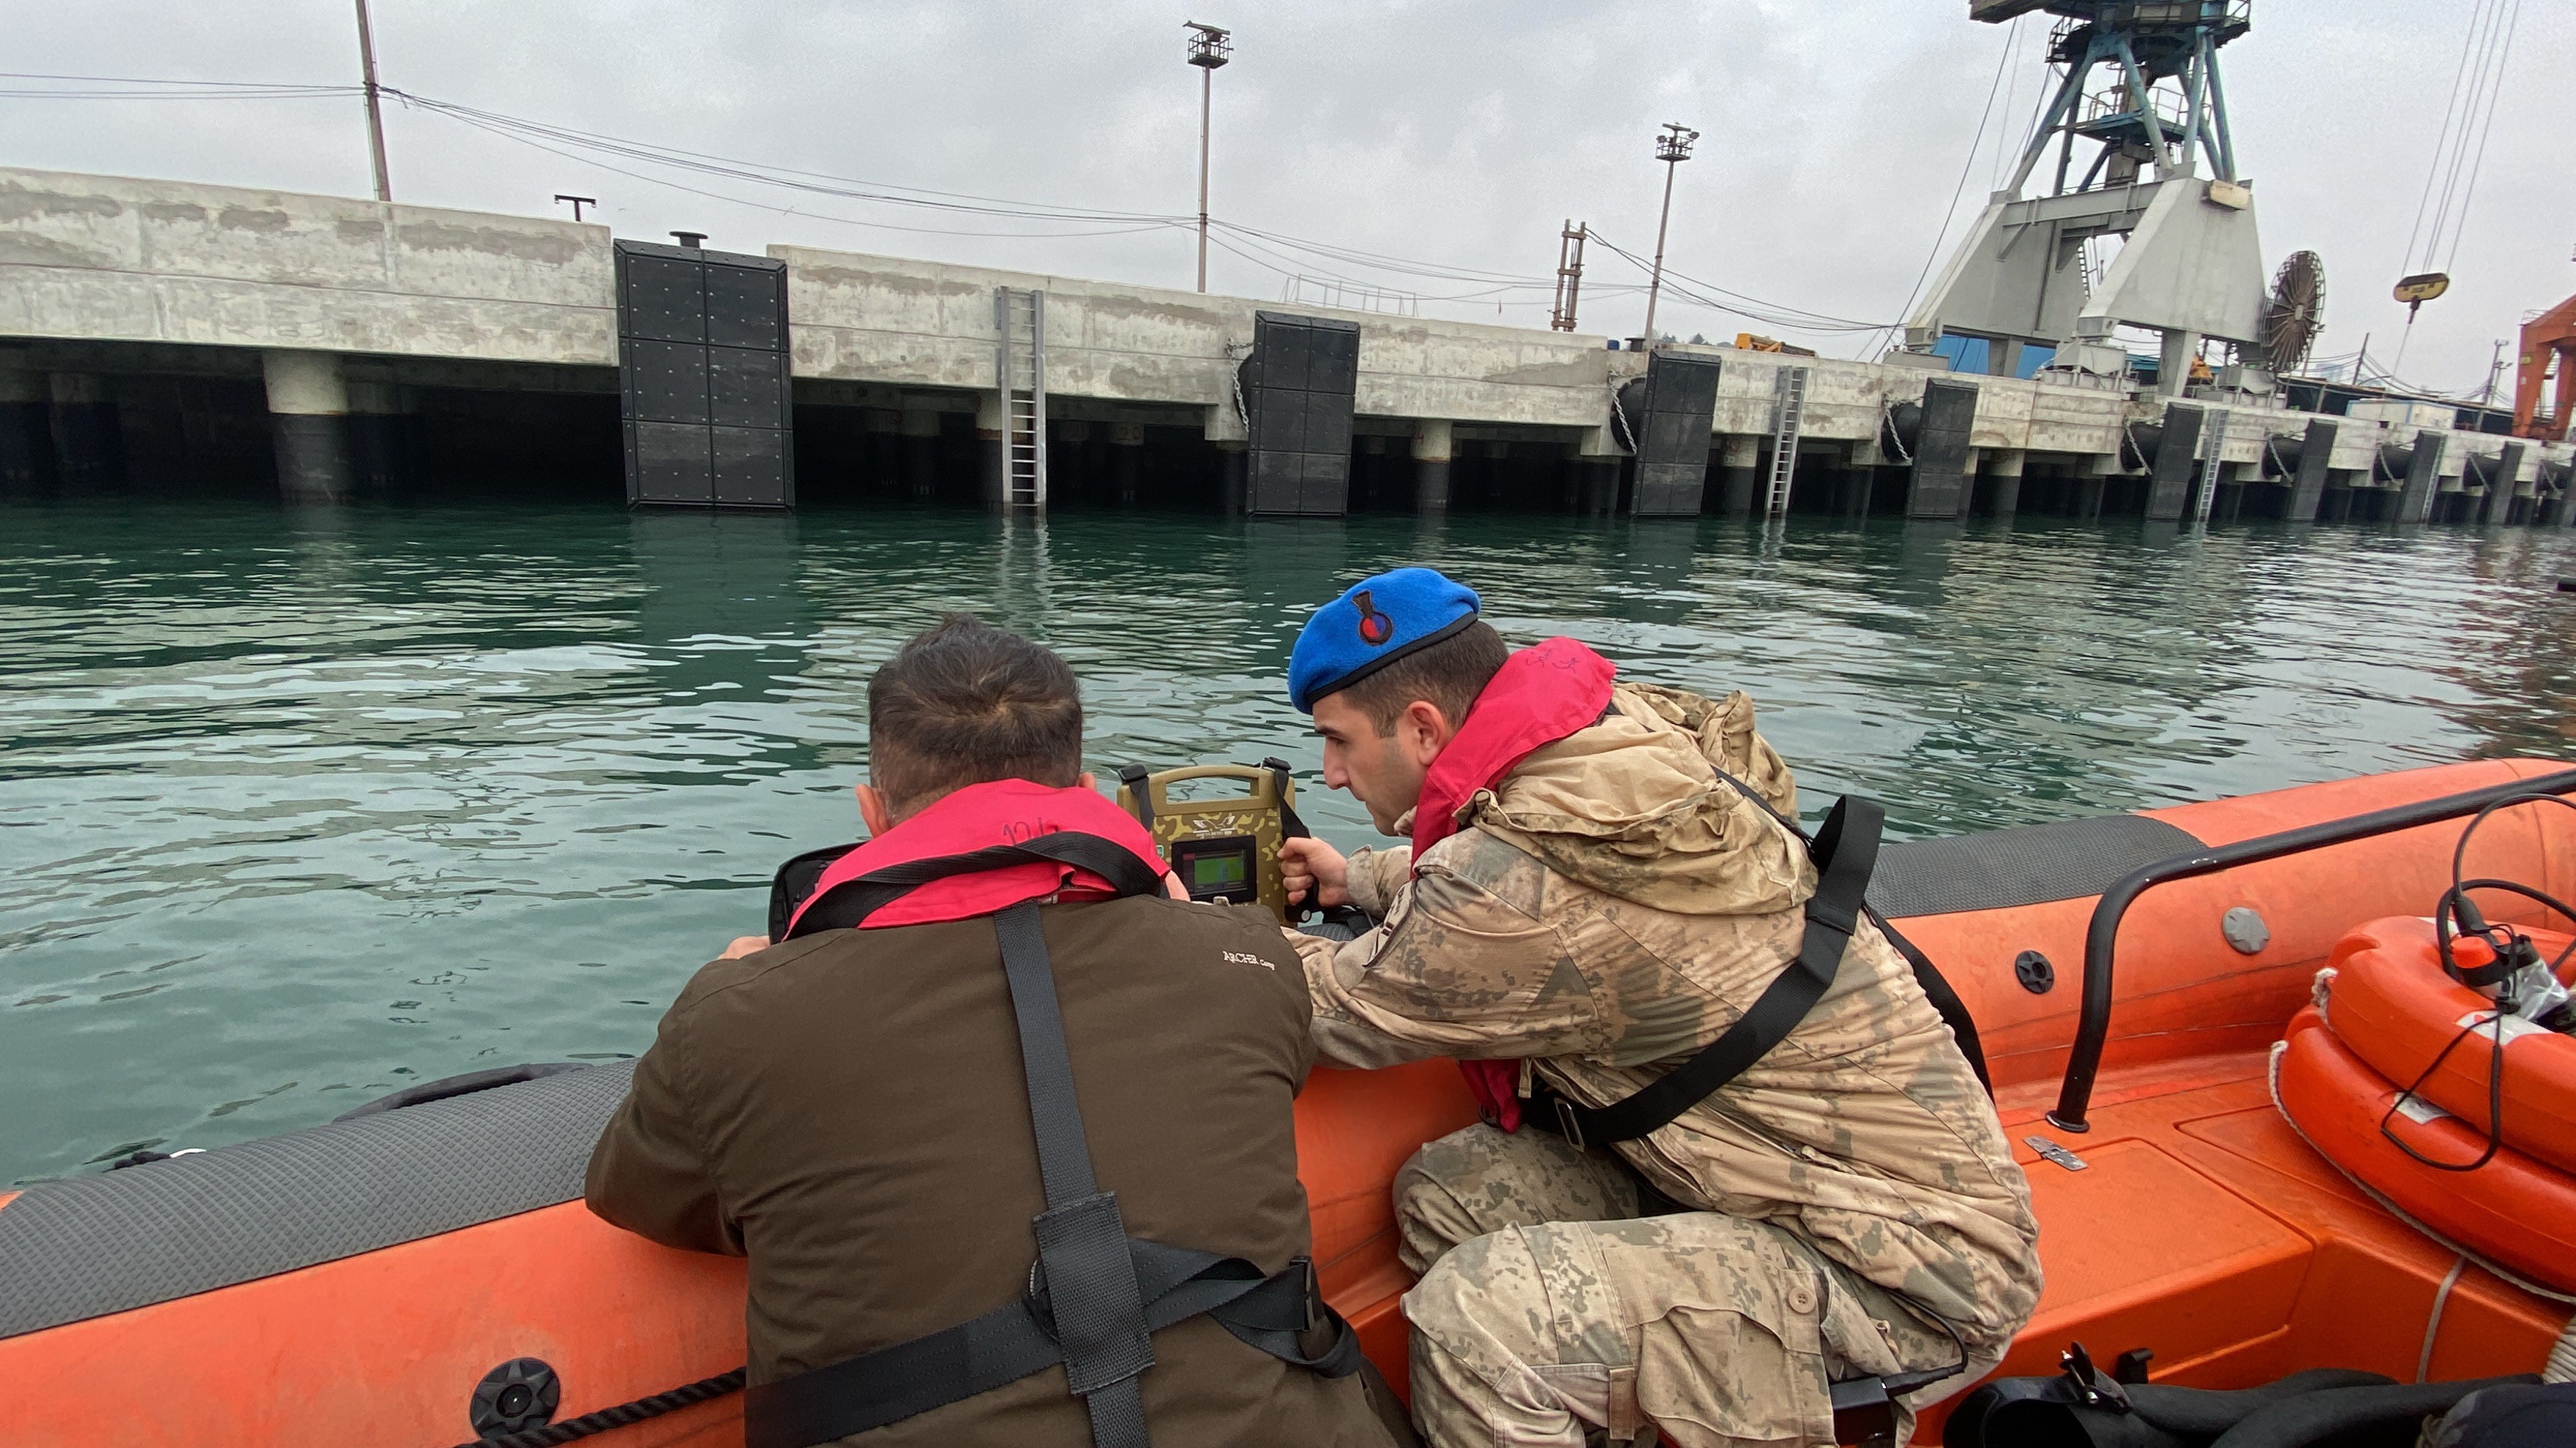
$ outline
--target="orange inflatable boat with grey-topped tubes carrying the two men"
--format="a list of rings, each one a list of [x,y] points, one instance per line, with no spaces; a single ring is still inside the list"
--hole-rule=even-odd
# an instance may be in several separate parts
[[[2365,1162],[2300,1139],[2378,1139],[2354,1072],[2388,1072],[2360,1051],[2401,1051],[2388,1062],[2403,1072],[2421,1041],[2393,1025],[2336,1041],[2388,1007],[2365,1005],[2352,964],[2414,948],[2388,917],[2429,912],[2465,817],[2532,786],[2576,791],[2576,770],[2481,760],[1883,850],[1870,897],[1976,1018],[2040,1214],[2048,1291],[2002,1373],[2048,1373],[2071,1340],[2105,1360],[2146,1350],[2156,1381],[2221,1389],[2313,1366],[2401,1381],[2540,1368],[2566,1299],[2478,1268],[2460,1252],[2483,1255],[2468,1234],[2437,1242],[2383,1206],[2403,1206],[2393,1188],[2362,1185]],[[2470,855],[2478,876],[2576,897],[2571,812],[2501,812]],[[2537,904],[2496,910],[2543,925]],[[2311,992],[2326,964],[2352,984],[2321,1018]],[[2421,1015],[2393,989],[2372,1000]],[[2280,1090],[2298,1129],[2272,1100],[2285,1033]],[[2465,1134],[2450,1159],[2481,1141],[2483,1098],[2455,1092],[2486,1082],[2468,1051],[2432,1098]],[[2514,1087],[2504,1116],[2522,1144],[2517,1121],[2563,1098],[2540,1080]],[[703,1402],[587,1440],[739,1443],[721,1373],[744,1355],[742,1265],[654,1247],[580,1203],[623,1090],[623,1067],[567,1069],[8,1198],[0,1440],[446,1448],[500,1396],[544,1389],[569,1427],[716,1378],[683,1394]],[[2329,1126],[2311,1098],[2372,1123]],[[1468,1121],[1445,1062],[1316,1072],[1298,1100],[1327,1293],[1399,1386],[1409,1281],[1388,1183],[1414,1147]],[[2442,1131],[2421,1149],[2463,1152]],[[2563,1170],[2530,1152],[2535,1172]],[[2486,1170],[2445,1185],[2514,1190]],[[2527,1224],[2545,1208],[2512,1211]],[[1940,1417],[1919,1440],[1937,1440]]]

